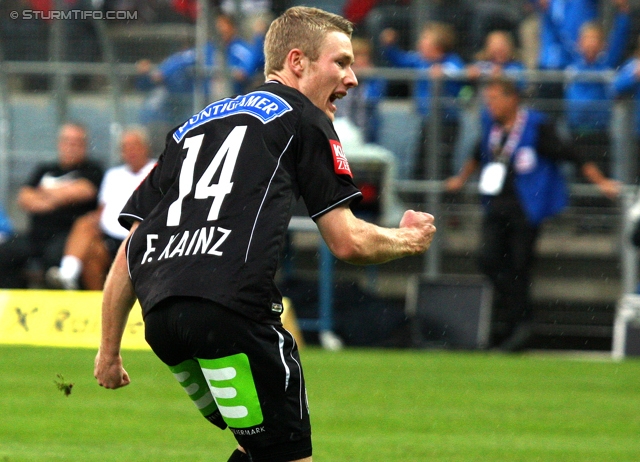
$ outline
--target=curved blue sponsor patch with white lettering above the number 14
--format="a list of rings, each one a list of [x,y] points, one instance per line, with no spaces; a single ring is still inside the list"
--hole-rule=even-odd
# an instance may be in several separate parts
[[[235,98],[225,98],[211,103],[202,111],[191,116],[184,125],[173,133],[173,139],[179,143],[190,130],[210,120],[222,119],[236,114],[248,114],[266,124],[291,110],[289,103],[268,91],[254,91]]]

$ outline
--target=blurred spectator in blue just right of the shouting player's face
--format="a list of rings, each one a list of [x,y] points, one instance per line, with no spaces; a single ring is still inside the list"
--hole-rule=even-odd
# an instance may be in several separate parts
[[[353,71],[358,77],[358,86],[349,90],[349,94],[336,101],[337,115],[347,117],[356,127],[362,131],[364,141],[367,143],[378,142],[380,131],[380,114],[378,105],[386,95],[387,81],[375,77],[361,77],[362,70],[372,69],[373,45],[370,40],[354,37],[351,40],[353,46]]]

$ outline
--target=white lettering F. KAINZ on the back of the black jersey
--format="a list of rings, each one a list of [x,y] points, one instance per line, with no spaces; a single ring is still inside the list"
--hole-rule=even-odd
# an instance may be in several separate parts
[[[204,227],[193,232],[185,230],[170,235],[166,242],[157,242],[160,239],[158,234],[147,234],[147,249],[140,264],[193,255],[220,257],[220,247],[229,234],[231,230],[219,226]]]

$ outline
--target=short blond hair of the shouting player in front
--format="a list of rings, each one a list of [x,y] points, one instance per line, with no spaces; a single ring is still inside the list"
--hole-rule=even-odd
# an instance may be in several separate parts
[[[294,48],[316,61],[325,36],[333,31],[351,38],[353,24],[342,16],[318,8],[289,8],[271,23],[265,36],[265,75],[282,70],[289,51]]]

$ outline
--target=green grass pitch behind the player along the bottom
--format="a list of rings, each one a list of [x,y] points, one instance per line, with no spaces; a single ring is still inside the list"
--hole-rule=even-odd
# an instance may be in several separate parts
[[[234,441],[146,351],[130,386],[94,351],[0,347],[0,462],[226,461]],[[640,461],[640,362],[531,354],[302,351],[314,461]],[[74,383],[65,397],[56,374]]]

